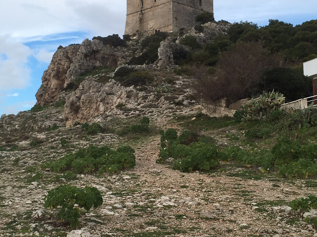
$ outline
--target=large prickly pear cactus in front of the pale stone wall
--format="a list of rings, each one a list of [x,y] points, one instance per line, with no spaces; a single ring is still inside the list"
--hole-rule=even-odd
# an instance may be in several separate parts
[[[241,105],[246,112],[241,119],[242,122],[252,122],[265,119],[274,110],[282,110],[281,105],[285,103],[283,94],[272,92],[263,94],[259,98],[251,99],[249,105]]]

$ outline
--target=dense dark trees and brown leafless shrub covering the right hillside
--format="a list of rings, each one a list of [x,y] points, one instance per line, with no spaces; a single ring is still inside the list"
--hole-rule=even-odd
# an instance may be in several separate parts
[[[181,66],[177,74],[194,75],[206,100],[235,102],[273,88],[283,91],[287,102],[307,97],[312,81],[303,76],[302,62],[317,57],[316,29],[317,20],[296,26],[269,20],[264,27],[235,22],[227,35],[217,35],[201,49],[186,36],[180,43],[192,50],[173,52]]]

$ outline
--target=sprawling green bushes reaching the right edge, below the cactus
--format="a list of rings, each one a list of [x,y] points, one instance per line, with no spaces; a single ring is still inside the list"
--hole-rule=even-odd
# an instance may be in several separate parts
[[[281,137],[271,149],[246,150],[239,146],[230,146],[222,153],[223,157],[236,163],[262,167],[262,172],[268,169],[278,170],[281,177],[307,178],[317,174],[317,145],[302,144],[300,140],[292,141]]]

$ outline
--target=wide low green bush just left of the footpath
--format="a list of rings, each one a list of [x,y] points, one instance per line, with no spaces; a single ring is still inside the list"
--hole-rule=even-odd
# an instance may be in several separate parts
[[[67,154],[50,165],[54,172],[73,170],[74,173],[115,173],[135,166],[135,151],[130,146],[121,146],[117,150],[107,146],[89,145],[77,152]]]

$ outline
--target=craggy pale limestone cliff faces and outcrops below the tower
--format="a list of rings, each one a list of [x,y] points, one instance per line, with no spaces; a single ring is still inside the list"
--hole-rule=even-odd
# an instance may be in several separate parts
[[[227,29],[228,25],[209,22],[204,25],[204,32],[191,29],[187,34],[179,36],[176,42],[174,36],[168,37],[160,44],[158,60],[150,65],[124,66],[131,57],[139,56],[144,52],[144,48],[139,43],[144,39],[130,41],[124,48],[114,48],[104,45],[99,40],[90,41],[88,39],[84,40],[81,45],[70,45],[65,48],[60,46],[43,74],[42,85],[36,93],[36,104],[43,106],[61,99],[65,100],[63,116],[68,127],[74,125],[75,121],[95,122],[98,116],[111,115],[118,103],[126,104],[131,108],[138,107],[142,103],[151,101],[153,95],[140,92],[133,86],[121,86],[113,79],[109,80],[109,78],[115,78],[118,68],[114,73],[108,75],[99,74],[94,77],[86,77],[79,86],[77,84],[78,89],[72,92],[63,92],[63,89],[69,83],[77,82],[76,79],[82,74],[99,66],[124,66],[130,67],[130,70],[134,71],[155,71],[165,68],[168,71],[176,67],[172,53],[176,48],[191,50],[189,46],[179,44],[181,38],[193,35],[197,42],[204,44],[211,42],[216,35],[226,34]],[[102,83],[98,82],[100,78],[103,78]],[[109,82],[107,82],[108,80]],[[154,88],[151,88],[151,91],[153,92]]]

